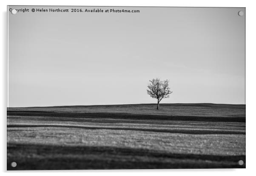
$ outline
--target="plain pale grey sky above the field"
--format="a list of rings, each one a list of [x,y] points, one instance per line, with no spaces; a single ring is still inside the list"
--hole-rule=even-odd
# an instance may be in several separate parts
[[[10,107],[156,103],[156,77],[173,91],[161,103],[245,103],[245,8],[26,8],[9,13]]]

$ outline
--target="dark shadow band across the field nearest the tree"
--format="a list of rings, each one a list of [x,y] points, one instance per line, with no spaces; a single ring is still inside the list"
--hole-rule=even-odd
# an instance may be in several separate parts
[[[80,118],[112,118],[134,120],[180,120],[206,122],[245,122],[245,117],[205,117],[205,116],[171,116],[171,115],[138,115],[126,113],[73,113],[73,112],[44,112],[44,111],[7,111],[7,115],[33,117],[80,117]]]

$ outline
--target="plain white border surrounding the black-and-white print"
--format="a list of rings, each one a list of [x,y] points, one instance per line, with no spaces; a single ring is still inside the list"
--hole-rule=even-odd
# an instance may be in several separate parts
[[[22,171],[18,173],[20,176],[47,174],[54,175],[56,172],[62,172],[64,176],[69,176],[71,172],[86,175],[141,175],[147,174],[155,176],[157,173],[161,175],[176,174],[179,176],[216,176],[232,174],[232,176],[254,175],[255,167],[255,136],[256,133],[256,117],[255,117],[255,101],[256,101],[256,87],[255,87],[255,70],[256,70],[256,56],[255,56],[255,42],[256,42],[256,6],[253,0],[1,0],[1,154],[0,156],[0,170],[3,174],[14,175],[17,172],[6,172],[6,106],[7,106],[7,22],[6,22],[6,6],[7,5],[49,5],[49,6],[196,6],[196,7],[246,7],[246,169],[182,169],[182,170],[67,170],[67,171]],[[253,174],[254,173],[254,174]]]

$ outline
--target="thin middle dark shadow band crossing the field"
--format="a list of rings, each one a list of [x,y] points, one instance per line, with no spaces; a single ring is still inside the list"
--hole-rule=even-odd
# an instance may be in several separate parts
[[[40,128],[40,127],[54,127],[54,128],[77,128],[90,130],[130,130],[130,131],[148,131],[148,132],[162,132],[162,133],[182,133],[182,134],[245,134],[245,131],[235,130],[191,130],[191,129],[143,129],[143,128],[125,128],[125,127],[97,127],[97,126],[71,126],[71,125],[7,125],[7,128]]]

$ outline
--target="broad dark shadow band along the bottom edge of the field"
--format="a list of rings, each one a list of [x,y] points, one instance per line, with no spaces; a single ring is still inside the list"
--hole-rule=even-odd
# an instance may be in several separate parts
[[[245,159],[110,146],[7,145],[7,170],[245,168]]]

